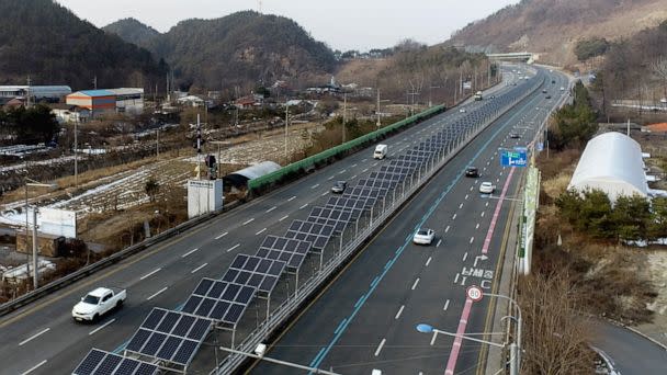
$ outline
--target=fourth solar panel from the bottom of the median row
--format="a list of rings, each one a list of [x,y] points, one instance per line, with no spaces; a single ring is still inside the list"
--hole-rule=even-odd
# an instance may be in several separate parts
[[[286,263],[255,255],[238,254],[223,281],[250,285],[259,292],[271,293]]]

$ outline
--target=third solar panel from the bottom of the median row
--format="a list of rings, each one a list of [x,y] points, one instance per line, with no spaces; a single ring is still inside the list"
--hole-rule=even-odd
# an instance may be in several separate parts
[[[229,272],[227,273],[229,274]],[[238,271],[234,272],[238,273]],[[225,276],[229,277],[227,274]],[[235,284],[225,280],[202,279],[183,305],[182,310],[215,321],[236,325],[256,292],[256,287],[248,285]]]

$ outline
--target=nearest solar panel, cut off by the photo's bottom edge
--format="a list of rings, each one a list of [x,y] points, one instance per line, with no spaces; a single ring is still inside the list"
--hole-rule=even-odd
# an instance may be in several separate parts
[[[158,373],[158,366],[128,359],[118,354],[92,349],[81,361],[74,375],[152,375]]]

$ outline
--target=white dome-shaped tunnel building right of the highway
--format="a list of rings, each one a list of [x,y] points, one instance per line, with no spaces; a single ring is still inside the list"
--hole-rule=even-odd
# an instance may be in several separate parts
[[[615,202],[620,195],[647,197],[642,148],[617,132],[599,135],[586,145],[568,190],[599,189]]]

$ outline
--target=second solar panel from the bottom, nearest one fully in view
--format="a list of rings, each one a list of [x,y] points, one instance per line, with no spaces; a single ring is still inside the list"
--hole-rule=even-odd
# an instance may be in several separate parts
[[[212,321],[208,319],[155,307],[125,349],[188,365],[211,328]]]

